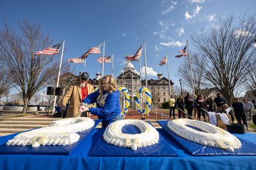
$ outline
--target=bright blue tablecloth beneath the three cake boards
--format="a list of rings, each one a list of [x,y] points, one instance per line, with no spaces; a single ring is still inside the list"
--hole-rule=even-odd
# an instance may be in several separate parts
[[[0,155],[0,169],[255,169],[255,156],[189,155],[163,129],[159,133],[173,146],[178,157],[89,157],[88,152],[102,134],[94,129],[71,155]],[[256,135],[240,136],[256,143]],[[8,137],[1,137],[0,142]]]

